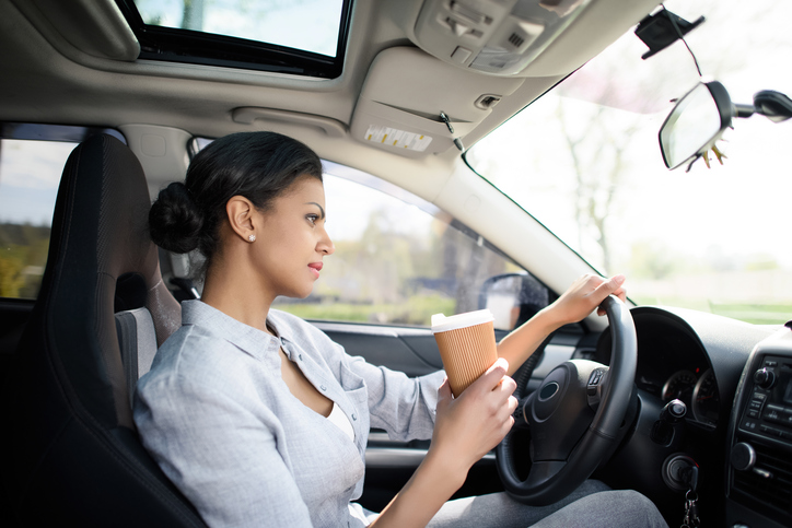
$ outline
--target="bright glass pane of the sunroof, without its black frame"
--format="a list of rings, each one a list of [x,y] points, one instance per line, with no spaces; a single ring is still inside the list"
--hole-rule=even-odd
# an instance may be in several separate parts
[[[147,25],[337,56],[342,0],[135,0]]]

